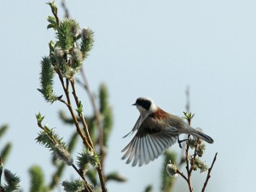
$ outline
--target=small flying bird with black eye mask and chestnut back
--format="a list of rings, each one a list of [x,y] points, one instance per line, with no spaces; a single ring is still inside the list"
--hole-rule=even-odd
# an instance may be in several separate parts
[[[141,167],[157,159],[166,149],[176,143],[179,134],[186,133],[212,144],[213,139],[205,133],[190,127],[183,118],[174,116],[154,104],[153,99],[140,97],[135,105],[140,112],[135,126],[128,135],[135,133],[131,142],[125,146],[122,160],[132,162],[131,166]]]

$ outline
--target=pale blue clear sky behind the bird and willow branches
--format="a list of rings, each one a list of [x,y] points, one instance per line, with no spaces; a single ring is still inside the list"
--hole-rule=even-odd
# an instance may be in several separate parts
[[[30,166],[43,167],[46,179],[53,171],[49,150],[35,142],[35,114],[41,111],[44,122],[57,127],[63,138],[71,133],[58,118],[62,104],[45,103],[37,91],[40,59],[55,39],[46,29],[51,13],[45,3],[4,1],[0,7],[0,125],[9,124],[0,149],[12,141],[5,167],[20,176],[25,191]],[[60,1],[56,5],[63,16]],[[108,184],[109,191],[139,192],[148,184],[160,191],[162,158],[144,167],[126,165],[120,151],[131,138],[122,136],[137,121],[139,113],[131,104],[138,97],[148,96],[163,110],[183,116],[188,86],[192,126],[214,138],[204,155],[208,165],[218,152],[207,191],[254,191],[255,1],[73,0],[67,7],[79,25],[95,31],[95,46],[84,63],[90,88],[97,93],[101,82],[108,85],[114,126],[106,172],[119,171],[128,178],[125,184]],[[61,93],[58,82],[55,88]],[[79,89],[79,94],[90,114],[86,93]],[[180,153],[177,144],[172,149]],[[195,191],[206,176],[195,174]],[[63,180],[72,177],[76,174],[67,168]],[[175,189],[180,188],[186,191],[183,179],[177,178]]]

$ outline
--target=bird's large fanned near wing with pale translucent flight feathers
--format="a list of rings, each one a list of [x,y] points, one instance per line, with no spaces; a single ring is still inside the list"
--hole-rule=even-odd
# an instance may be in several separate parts
[[[160,126],[162,125],[162,126]],[[148,164],[149,161],[157,159],[167,148],[177,141],[178,130],[160,123],[160,120],[148,116],[140,127],[131,142],[127,144],[122,152],[125,152],[122,159],[126,163],[132,162],[132,166]]]

